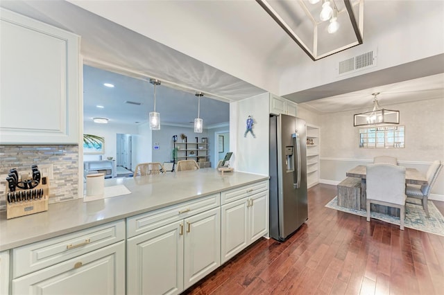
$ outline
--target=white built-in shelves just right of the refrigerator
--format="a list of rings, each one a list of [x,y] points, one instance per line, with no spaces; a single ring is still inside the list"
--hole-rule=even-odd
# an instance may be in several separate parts
[[[319,183],[320,129],[307,123],[307,187]]]

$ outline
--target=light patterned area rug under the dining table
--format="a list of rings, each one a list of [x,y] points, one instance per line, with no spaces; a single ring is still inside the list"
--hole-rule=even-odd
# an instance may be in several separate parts
[[[438,211],[433,202],[429,201],[430,217],[425,216],[425,211],[422,209],[420,202],[420,199],[407,198],[404,226],[410,229],[416,229],[418,231],[425,231],[427,233],[435,233],[436,235],[444,236],[443,215]],[[337,196],[328,202],[325,207],[359,216],[367,216],[367,212],[365,210],[356,210],[339,206]],[[372,212],[371,217],[376,220],[382,220],[383,222],[400,225],[400,217],[388,216],[376,212]]]

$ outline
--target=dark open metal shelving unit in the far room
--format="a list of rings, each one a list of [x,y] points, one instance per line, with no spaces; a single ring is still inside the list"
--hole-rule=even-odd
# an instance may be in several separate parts
[[[205,143],[198,142],[198,138],[196,137],[196,142],[191,143],[185,139],[185,142],[176,141],[174,143],[174,148],[177,151],[177,157],[175,162],[180,160],[189,160],[192,159],[196,161],[200,168],[210,168],[210,154],[208,154],[208,141]]]

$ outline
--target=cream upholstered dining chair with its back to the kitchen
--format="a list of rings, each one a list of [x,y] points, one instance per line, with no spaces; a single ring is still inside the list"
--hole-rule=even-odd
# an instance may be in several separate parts
[[[387,163],[367,166],[367,221],[370,222],[370,204],[400,208],[400,229],[404,230],[405,167]]]

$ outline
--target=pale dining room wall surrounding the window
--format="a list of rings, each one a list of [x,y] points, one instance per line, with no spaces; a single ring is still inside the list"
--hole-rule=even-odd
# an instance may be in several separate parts
[[[380,155],[397,157],[400,165],[423,173],[432,161],[444,161],[444,98],[383,107],[400,111],[404,148],[359,148],[359,128],[353,127],[353,114],[368,109],[321,115],[321,182],[335,184],[350,168],[366,165]],[[444,172],[432,194],[444,197]]]

